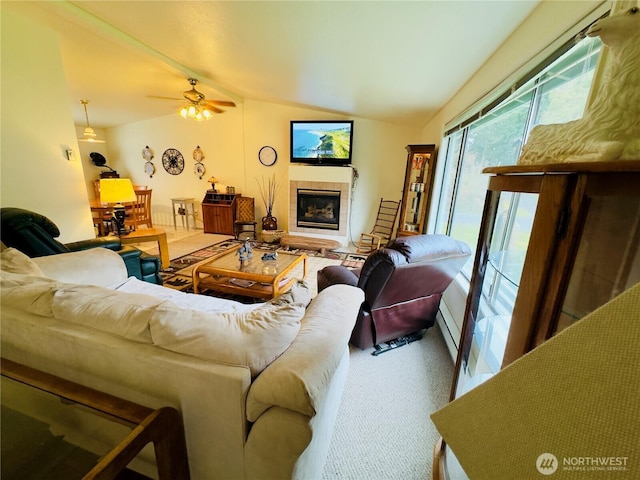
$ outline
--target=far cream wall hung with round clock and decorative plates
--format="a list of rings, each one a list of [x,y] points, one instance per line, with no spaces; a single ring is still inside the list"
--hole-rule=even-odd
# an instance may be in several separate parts
[[[154,222],[172,224],[171,198],[194,197],[198,202],[209,187],[211,175],[237,193],[256,198],[256,217],[265,214],[258,180],[275,175],[281,187],[274,204],[278,228],[288,229],[288,169],[290,120],[334,120],[346,118],[317,110],[247,100],[205,122],[185,120],[177,114],[136,122],[105,130],[107,163],[122,177],[153,188]],[[351,118],[351,117],[349,117]],[[353,204],[352,232],[357,241],[361,231],[373,225],[380,197],[400,199],[404,183],[407,144],[415,143],[420,129],[355,118],[353,162],[360,179]],[[149,145],[155,151],[156,174],[144,174],[141,151]],[[193,149],[200,145],[205,153],[207,173],[202,180],[193,173]],[[258,151],[271,145],[278,152],[272,167],[258,161]],[[177,148],[186,162],[182,174],[173,176],[162,168],[166,148]],[[87,170],[87,181],[100,170]],[[201,212],[200,212],[201,213]]]

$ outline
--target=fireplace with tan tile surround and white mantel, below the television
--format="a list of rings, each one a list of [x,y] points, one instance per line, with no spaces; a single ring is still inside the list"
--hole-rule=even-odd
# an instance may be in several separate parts
[[[289,232],[348,243],[352,170],[289,167]]]

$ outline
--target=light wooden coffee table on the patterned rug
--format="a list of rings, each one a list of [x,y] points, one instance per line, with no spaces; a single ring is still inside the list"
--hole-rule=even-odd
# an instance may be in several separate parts
[[[278,252],[275,260],[261,259],[265,250],[253,250],[253,258],[240,262],[238,249],[196,265],[193,293],[210,289],[246,297],[270,299],[286,292],[295,281],[288,277],[302,263],[302,279],[307,276],[307,256]]]

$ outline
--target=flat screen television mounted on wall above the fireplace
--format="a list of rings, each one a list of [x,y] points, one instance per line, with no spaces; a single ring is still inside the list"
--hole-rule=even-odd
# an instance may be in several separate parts
[[[349,165],[353,120],[292,120],[291,163]]]

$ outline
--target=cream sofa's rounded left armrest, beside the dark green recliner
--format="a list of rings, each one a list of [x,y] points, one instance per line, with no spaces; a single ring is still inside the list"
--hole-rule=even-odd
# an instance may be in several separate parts
[[[32,260],[45,277],[59,282],[108,287],[128,278],[122,257],[106,248],[59,253]]]

